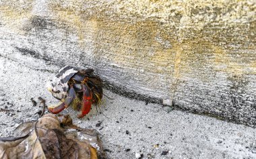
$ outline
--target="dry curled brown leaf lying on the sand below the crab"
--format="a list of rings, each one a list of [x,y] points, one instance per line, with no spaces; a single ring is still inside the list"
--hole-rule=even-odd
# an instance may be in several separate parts
[[[25,122],[14,137],[0,138],[0,158],[100,158],[102,144],[95,129],[72,125],[69,115],[46,114]]]

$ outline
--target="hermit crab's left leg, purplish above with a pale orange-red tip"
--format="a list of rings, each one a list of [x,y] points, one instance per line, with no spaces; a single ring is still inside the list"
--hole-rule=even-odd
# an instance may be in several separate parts
[[[48,107],[48,110],[51,111],[51,113],[57,114],[63,111],[63,109],[65,109],[66,107],[69,107],[73,99],[75,99],[75,89],[71,87],[69,89],[69,94],[67,95],[67,98],[65,99],[65,101],[63,103],[60,103],[57,106]]]

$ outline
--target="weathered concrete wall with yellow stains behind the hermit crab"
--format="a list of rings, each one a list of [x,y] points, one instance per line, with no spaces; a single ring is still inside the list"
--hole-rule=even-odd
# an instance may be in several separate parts
[[[255,126],[256,3],[0,2],[1,56],[93,66],[106,87]]]

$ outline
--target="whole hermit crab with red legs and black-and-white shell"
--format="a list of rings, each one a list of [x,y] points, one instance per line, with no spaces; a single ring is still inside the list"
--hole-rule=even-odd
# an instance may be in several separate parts
[[[47,83],[53,97],[61,100],[58,105],[49,106],[51,113],[59,113],[69,105],[81,109],[77,117],[84,117],[90,112],[92,103],[100,103],[103,95],[102,80],[94,75],[94,70],[79,69],[75,66],[64,66],[56,76]]]

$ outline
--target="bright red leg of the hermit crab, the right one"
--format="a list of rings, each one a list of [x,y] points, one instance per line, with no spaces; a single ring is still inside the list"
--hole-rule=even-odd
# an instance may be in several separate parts
[[[88,85],[82,85],[83,95],[83,105],[82,105],[82,112],[77,117],[81,118],[88,114],[92,107],[92,91],[88,87]]]

